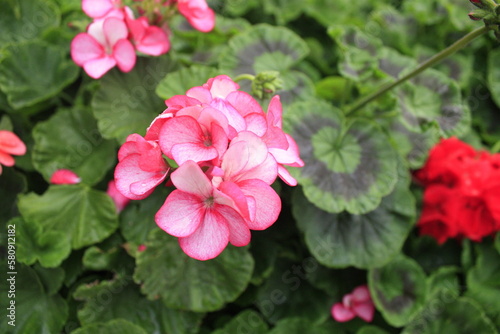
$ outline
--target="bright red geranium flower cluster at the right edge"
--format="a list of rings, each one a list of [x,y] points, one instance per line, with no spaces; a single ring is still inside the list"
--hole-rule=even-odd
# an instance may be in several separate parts
[[[415,176],[425,186],[421,234],[442,244],[449,238],[481,241],[500,230],[500,154],[444,139]]]

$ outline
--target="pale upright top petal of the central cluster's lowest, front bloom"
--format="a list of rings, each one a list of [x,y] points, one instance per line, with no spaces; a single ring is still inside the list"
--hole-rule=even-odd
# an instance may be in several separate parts
[[[186,161],[172,173],[170,179],[183,192],[196,195],[202,199],[212,196],[213,186],[210,180],[194,161]]]

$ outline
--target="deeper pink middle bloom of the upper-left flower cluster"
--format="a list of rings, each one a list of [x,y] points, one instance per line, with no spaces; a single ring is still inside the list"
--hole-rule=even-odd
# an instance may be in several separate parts
[[[127,16],[126,23],[137,51],[150,56],[159,56],[170,49],[167,33],[160,27],[150,26],[146,17],[134,20],[133,17]]]

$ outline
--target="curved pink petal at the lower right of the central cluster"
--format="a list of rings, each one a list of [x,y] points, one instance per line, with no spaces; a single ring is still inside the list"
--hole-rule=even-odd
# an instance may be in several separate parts
[[[255,200],[255,218],[247,221],[251,230],[265,230],[278,219],[281,198],[268,184],[261,180],[245,180],[237,183],[245,196]]]

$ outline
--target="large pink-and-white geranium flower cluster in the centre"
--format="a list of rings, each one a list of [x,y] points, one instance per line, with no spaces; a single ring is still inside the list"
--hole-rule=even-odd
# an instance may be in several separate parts
[[[282,130],[279,96],[265,113],[238,89],[221,75],[170,98],[145,137],[130,135],[118,152],[116,187],[130,199],[147,197],[170,174],[177,189],[155,220],[198,260],[216,257],[228,243],[245,246],[250,230],[271,226],[281,200],[270,185],[277,176],[296,185],[284,165],[304,165]],[[175,171],[163,155],[175,161]]]

